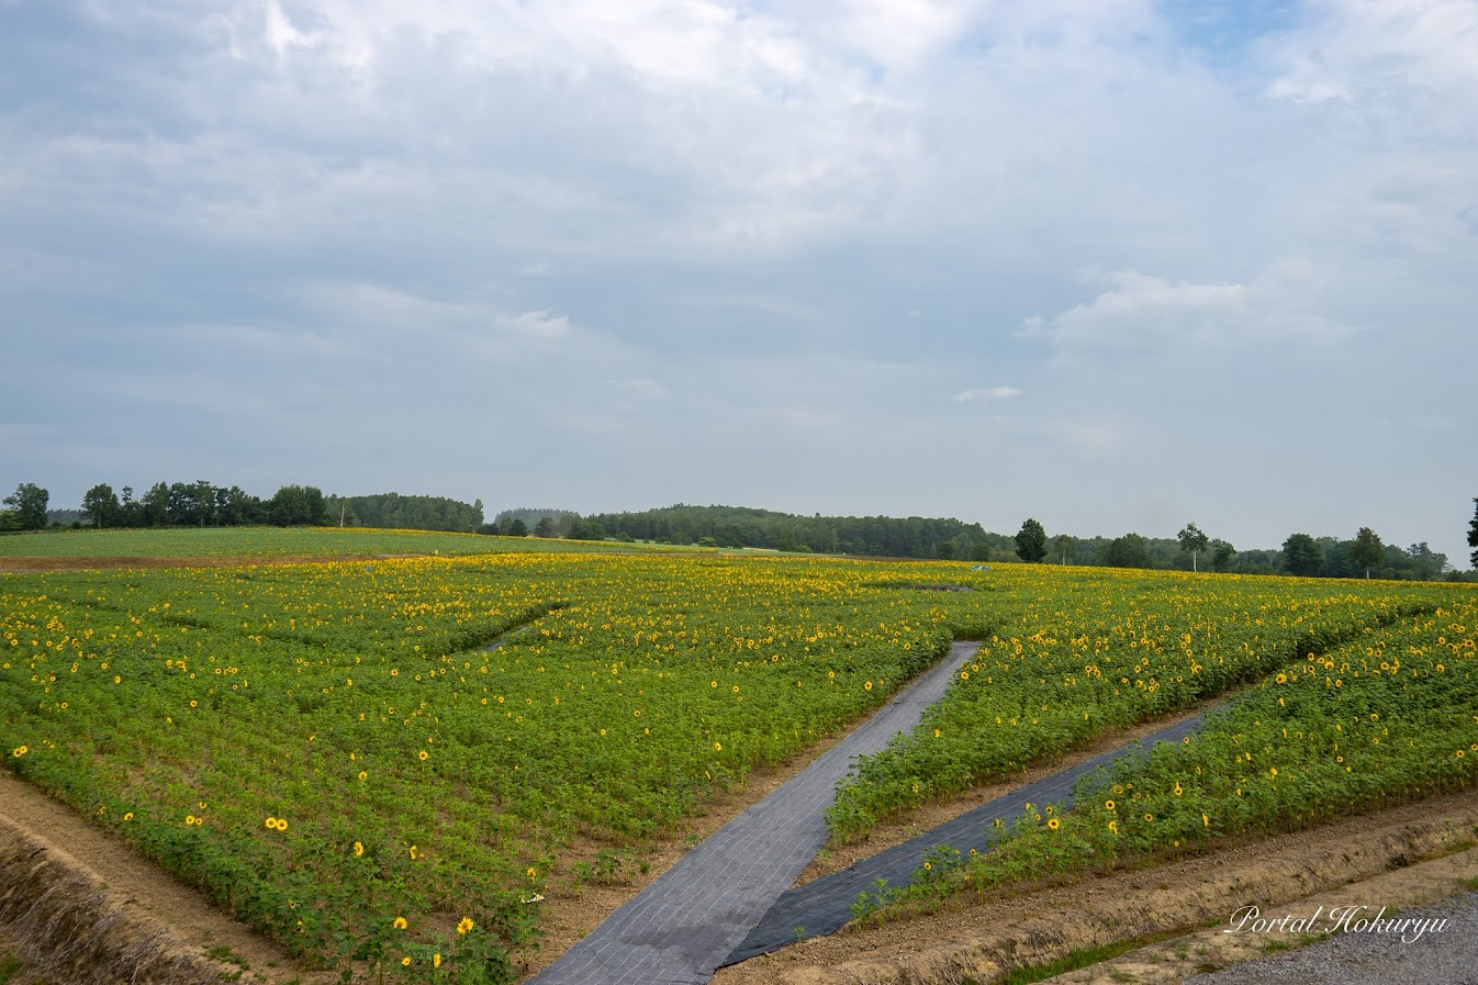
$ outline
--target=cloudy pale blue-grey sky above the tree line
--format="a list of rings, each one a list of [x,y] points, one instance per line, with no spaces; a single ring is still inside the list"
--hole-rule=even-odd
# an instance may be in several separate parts
[[[1478,0],[0,0],[0,485],[1478,497]]]

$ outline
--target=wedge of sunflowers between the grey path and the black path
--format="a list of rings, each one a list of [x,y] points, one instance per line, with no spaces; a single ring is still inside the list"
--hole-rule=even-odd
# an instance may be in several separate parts
[[[919,729],[857,762],[828,812],[832,836],[865,836],[930,799],[1190,707],[1447,598],[1444,589],[1392,598],[1324,583],[1038,569],[1027,598]]]

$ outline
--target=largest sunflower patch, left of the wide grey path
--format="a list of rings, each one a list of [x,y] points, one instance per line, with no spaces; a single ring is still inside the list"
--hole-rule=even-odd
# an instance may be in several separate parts
[[[152,537],[216,534],[239,535]],[[387,543],[281,535],[288,553]],[[605,547],[6,575],[4,763],[296,952],[505,981],[547,889],[624,877],[625,852],[576,870],[578,833],[646,843],[885,703],[952,626],[999,605],[868,587],[872,571]],[[491,957],[452,960],[470,944],[449,905],[486,929]]]

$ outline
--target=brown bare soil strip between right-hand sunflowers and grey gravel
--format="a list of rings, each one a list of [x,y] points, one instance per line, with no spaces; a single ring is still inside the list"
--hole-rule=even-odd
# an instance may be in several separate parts
[[[1358,905],[1395,905],[1391,883],[1369,883],[1392,870],[1469,849],[1478,837],[1478,794],[1460,793],[1323,825],[1231,844],[1210,855],[1085,877],[1061,886],[968,898],[947,910],[862,924],[721,969],[714,985],[958,985],[989,982],[1017,967],[1036,967],[1079,948],[1116,941],[1221,930],[1231,914],[1264,911],[1341,886]],[[1472,852],[1447,867],[1478,874]],[[1441,884],[1437,870],[1411,873],[1411,884]],[[1459,886],[1447,879],[1450,889]],[[1314,904],[1317,905],[1317,904]],[[1299,910],[1312,907],[1299,904]],[[1174,945],[1172,945],[1174,947]],[[1190,945],[1194,948],[1194,944]],[[1228,960],[1230,955],[1228,955]],[[1215,955],[1208,966],[1219,966]],[[1113,979],[1111,975],[1106,981]]]

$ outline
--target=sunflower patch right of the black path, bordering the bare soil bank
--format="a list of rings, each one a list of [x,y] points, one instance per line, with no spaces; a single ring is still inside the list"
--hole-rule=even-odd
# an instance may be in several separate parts
[[[1478,782],[1478,599],[1301,648],[1156,745],[1085,776],[1055,830],[1027,810],[989,852],[887,902],[934,904],[1227,839],[1312,827]]]

